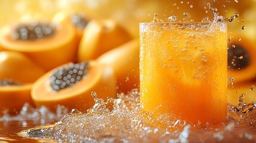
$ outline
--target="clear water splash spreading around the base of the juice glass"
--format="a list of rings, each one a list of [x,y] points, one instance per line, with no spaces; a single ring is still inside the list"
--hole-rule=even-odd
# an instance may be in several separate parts
[[[24,138],[48,138],[60,142],[253,142],[256,141],[256,104],[229,105],[223,125],[195,128],[185,120],[153,117],[140,108],[140,93],[133,90],[107,102],[92,92],[95,105],[82,113],[73,110],[55,125],[23,130]],[[109,106],[111,104],[111,106]]]

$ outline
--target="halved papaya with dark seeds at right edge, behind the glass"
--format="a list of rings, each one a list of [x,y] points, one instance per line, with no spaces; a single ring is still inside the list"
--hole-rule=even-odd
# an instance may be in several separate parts
[[[235,78],[236,82],[255,79],[256,46],[241,35],[234,37],[228,43],[228,77]]]

